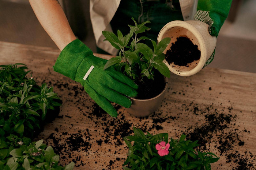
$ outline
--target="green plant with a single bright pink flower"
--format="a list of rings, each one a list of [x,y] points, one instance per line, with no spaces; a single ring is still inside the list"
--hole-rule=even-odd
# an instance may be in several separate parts
[[[128,157],[124,162],[124,170],[133,169],[211,169],[211,163],[218,157],[211,152],[195,151],[197,141],[185,141],[186,136],[173,139],[167,133],[145,135],[142,130],[133,127],[134,135],[124,137],[129,147]],[[133,142],[133,143],[132,143]]]

